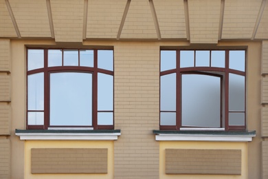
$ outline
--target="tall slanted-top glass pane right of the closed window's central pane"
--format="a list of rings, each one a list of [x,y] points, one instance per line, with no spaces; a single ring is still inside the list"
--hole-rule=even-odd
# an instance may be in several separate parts
[[[113,110],[113,76],[98,73],[98,110]]]

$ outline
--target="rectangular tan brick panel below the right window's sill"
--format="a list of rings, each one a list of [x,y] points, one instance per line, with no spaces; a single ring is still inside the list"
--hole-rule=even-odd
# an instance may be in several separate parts
[[[241,175],[241,150],[166,149],[166,173]]]

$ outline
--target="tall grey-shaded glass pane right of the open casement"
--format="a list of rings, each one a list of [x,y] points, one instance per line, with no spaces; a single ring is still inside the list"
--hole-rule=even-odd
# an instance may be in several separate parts
[[[245,110],[245,76],[229,74],[229,111]]]

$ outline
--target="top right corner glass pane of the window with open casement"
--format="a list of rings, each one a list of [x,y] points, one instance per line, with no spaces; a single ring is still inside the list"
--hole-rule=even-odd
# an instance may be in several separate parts
[[[231,69],[245,72],[245,50],[230,50]]]

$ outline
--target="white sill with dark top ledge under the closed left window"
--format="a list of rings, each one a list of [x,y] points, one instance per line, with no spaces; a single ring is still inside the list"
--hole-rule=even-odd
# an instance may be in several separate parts
[[[16,129],[15,134],[20,140],[118,140],[121,131]]]

